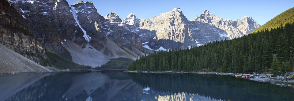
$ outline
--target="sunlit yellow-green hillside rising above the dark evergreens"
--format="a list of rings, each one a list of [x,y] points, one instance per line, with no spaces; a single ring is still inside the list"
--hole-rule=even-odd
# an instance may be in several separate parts
[[[266,29],[274,29],[276,27],[280,27],[281,25],[286,25],[288,22],[294,22],[294,7],[286,10],[285,12],[277,15],[270,21],[266,22],[264,25],[254,30],[254,32],[266,30]]]

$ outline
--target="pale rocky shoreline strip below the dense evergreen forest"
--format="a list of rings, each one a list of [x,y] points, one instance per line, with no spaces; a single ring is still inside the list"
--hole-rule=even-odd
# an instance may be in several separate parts
[[[132,72],[132,73],[181,73],[181,74],[212,74],[212,75],[228,75],[228,76],[235,76],[235,75],[241,75],[240,73],[224,73],[224,72],[172,72],[172,71],[166,71],[166,72],[138,72],[138,71],[123,71],[123,72]],[[272,84],[276,84],[279,86],[292,86],[291,84],[294,84],[294,79],[290,79],[288,81],[282,81],[282,79],[271,79],[269,77],[269,74],[256,74],[255,76],[249,78],[248,80],[252,81],[258,81],[258,82],[269,82]]]

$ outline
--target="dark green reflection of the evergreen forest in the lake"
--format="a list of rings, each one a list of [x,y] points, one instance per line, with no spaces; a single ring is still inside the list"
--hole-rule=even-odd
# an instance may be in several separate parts
[[[294,100],[293,87],[279,87],[270,83],[250,81],[233,76],[165,73],[128,73],[128,75],[136,83],[156,92],[154,96],[160,95],[158,99],[176,94],[178,97],[186,95],[186,98],[193,100],[200,98],[201,100],[231,101]]]

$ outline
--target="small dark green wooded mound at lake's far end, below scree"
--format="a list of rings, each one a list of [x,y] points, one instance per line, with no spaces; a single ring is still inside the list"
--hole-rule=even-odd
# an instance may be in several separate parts
[[[107,64],[101,66],[102,69],[126,69],[133,60],[130,58],[110,59]]]

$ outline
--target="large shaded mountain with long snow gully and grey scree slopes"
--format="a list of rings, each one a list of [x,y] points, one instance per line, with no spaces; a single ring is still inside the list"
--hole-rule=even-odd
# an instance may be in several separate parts
[[[112,58],[136,59],[144,54],[139,35],[111,25],[98,14],[93,2],[78,1],[71,6],[66,0],[9,2],[25,19],[32,35],[52,53],[53,59],[48,61],[58,60],[57,56],[59,60],[98,67]]]

